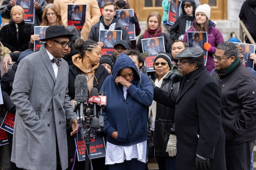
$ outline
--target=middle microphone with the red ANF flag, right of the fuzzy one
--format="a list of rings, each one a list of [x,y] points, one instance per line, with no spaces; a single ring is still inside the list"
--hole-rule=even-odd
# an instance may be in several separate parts
[[[101,102],[101,98],[99,97],[98,89],[97,88],[92,88],[90,92],[90,97],[88,99],[87,103],[92,103],[93,104],[93,122],[92,122],[92,128],[93,129],[99,129],[100,124],[99,124],[99,118],[97,118],[97,108],[96,105]]]

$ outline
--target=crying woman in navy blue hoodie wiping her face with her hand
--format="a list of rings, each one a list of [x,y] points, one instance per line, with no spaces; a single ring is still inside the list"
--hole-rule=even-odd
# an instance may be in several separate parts
[[[154,90],[126,54],[121,54],[101,88],[107,96],[103,110],[107,133],[105,164],[109,170],[145,170],[147,109]]]

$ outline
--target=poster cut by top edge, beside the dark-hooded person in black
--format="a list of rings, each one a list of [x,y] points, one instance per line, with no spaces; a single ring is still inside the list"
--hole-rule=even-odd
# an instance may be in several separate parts
[[[180,16],[180,8],[181,8],[181,0],[171,0],[169,3],[169,10],[168,10],[168,24],[173,25]]]

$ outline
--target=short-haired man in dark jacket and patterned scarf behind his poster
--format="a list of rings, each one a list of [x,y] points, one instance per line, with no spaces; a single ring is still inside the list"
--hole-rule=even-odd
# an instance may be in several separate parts
[[[100,47],[104,46],[104,43],[99,40],[100,30],[121,30],[122,40],[128,42],[131,47],[128,31],[125,26],[117,22],[116,19],[116,6],[113,2],[106,2],[102,8],[102,16],[98,23],[92,26],[88,40],[93,40],[99,44]]]

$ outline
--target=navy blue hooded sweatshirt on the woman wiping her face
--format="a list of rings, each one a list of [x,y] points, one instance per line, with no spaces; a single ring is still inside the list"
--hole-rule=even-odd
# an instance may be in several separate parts
[[[126,99],[123,86],[115,83],[119,71],[123,68],[132,68],[134,71],[134,79],[127,89]],[[107,96],[107,105],[102,113],[104,116],[103,131],[107,133],[107,141],[128,146],[147,140],[147,108],[153,101],[154,90],[147,75],[141,74],[140,76],[130,57],[121,54],[116,59],[113,75],[105,79],[100,91],[104,91]],[[117,139],[111,137],[113,131],[118,131]]]

